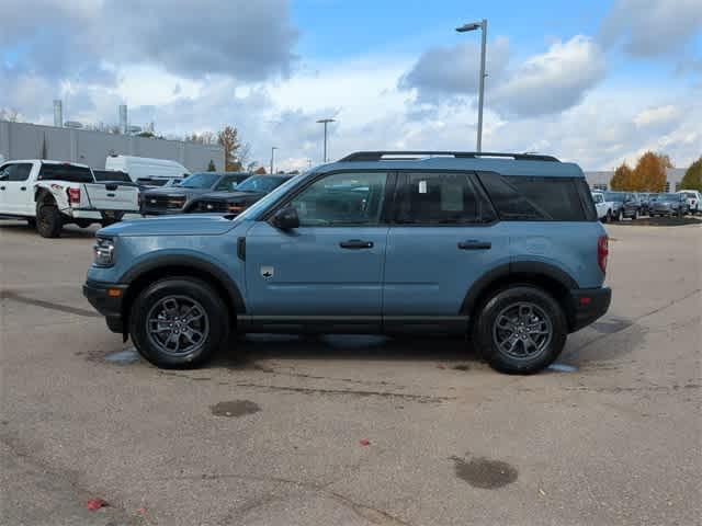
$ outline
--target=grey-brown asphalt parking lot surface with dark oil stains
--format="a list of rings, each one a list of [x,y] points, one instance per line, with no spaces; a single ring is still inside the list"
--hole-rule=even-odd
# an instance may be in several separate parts
[[[376,336],[159,370],[81,296],[94,229],[0,221],[0,523],[700,524],[702,227],[607,228],[610,312],[518,377]]]

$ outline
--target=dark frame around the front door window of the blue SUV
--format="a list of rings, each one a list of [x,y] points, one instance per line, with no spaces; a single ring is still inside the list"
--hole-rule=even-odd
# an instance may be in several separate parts
[[[322,179],[337,175],[339,173],[385,173],[387,175],[387,181],[385,182],[385,192],[383,196],[383,210],[381,211],[381,217],[377,222],[346,222],[343,225],[314,225],[314,226],[301,226],[301,228],[346,228],[346,227],[383,227],[389,225],[388,221],[388,201],[389,206],[394,211],[394,199],[395,199],[395,190],[397,183],[397,171],[396,170],[387,170],[383,168],[377,169],[340,169],[332,170],[329,172],[320,172],[314,175],[310,175],[308,180],[303,181],[299,185],[290,190],[290,192],[285,195],[282,195],[279,201],[273,203],[269,208],[262,210],[261,214],[254,219],[256,221],[267,221],[270,222],[273,215],[287,206],[295,197],[297,197],[301,193],[307,190],[309,186],[315,184],[317,181],[321,181]]]

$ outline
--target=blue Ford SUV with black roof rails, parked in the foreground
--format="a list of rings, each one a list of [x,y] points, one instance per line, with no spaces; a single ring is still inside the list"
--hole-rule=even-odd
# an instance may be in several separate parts
[[[203,364],[233,333],[422,333],[468,334],[528,374],[607,311],[607,258],[577,164],[364,151],[238,216],[103,228],[83,294],[160,367]]]

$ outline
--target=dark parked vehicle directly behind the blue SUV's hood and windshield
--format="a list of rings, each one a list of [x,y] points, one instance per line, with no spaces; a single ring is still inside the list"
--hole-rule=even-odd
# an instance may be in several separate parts
[[[251,175],[231,191],[196,197],[188,211],[240,214],[291,178],[292,175]]]

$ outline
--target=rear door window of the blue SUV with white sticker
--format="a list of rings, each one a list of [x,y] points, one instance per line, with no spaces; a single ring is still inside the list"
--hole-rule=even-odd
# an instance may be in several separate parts
[[[400,175],[395,221],[405,225],[490,222],[495,214],[467,173]]]

